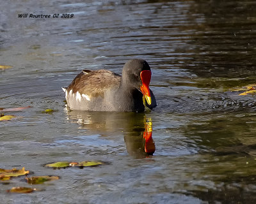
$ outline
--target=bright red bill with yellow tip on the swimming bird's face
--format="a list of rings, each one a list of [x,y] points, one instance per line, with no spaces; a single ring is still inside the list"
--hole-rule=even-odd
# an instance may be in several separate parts
[[[151,105],[151,96],[149,91],[149,84],[151,80],[151,71],[150,70],[143,70],[140,73],[140,78],[142,85],[140,87],[143,96],[147,99],[148,105]]]

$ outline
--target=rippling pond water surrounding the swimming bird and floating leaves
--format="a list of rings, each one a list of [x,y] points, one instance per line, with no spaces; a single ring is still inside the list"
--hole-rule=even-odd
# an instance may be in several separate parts
[[[255,203],[255,1],[1,1],[0,168],[60,180],[0,183],[1,203]],[[51,18],[19,18],[20,13]],[[61,14],[74,14],[61,18]],[[59,18],[53,18],[60,14]],[[146,113],[68,111],[82,69],[121,73],[147,60],[157,107]],[[52,108],[51,114],[42,113]],[[144,152],[152,122],[153,156]],[[56,161],[104,161],[52,170]],[[5,184],[5,185],[4,185]]]

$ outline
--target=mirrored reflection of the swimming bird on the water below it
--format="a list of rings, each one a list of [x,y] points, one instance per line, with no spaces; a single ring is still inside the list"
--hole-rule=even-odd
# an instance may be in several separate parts
[[[152,120],[145,113],[67,111],[68,122],[76,122],[86,135],[100,135],[116,141],[124,135],[125,146],[131,156],[147,157],[155,152],[152,138]],[[90,138],[90,137],[89,137]]]

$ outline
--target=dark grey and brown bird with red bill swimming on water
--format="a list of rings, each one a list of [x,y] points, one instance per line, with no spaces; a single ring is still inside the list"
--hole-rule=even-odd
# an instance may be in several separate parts
[[[148,63],[132,59],[125,63],[122,77],[106,69],[84,70],[63,91],[72,110],[143,112],[145,105],[156,107],[150,79]]]

